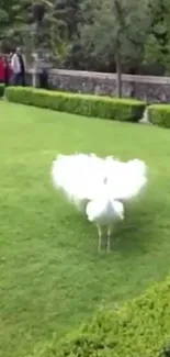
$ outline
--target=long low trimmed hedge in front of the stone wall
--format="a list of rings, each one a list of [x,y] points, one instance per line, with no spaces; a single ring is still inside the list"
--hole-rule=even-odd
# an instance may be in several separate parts
[[[61,112],[136,122],[141,119],[145,103],[131,99],[75,94],[35,88],[8,87],[9,101],[48,108]]]

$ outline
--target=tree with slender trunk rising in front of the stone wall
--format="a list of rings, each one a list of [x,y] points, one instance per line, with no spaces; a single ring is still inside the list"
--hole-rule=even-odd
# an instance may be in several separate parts
[[[114,56],[117,96],[122,97],[122,64],[137,58],[144,49],[149,30],[149,11],[145,1],[83,0],[81,43],[97,57],[107,62]]]

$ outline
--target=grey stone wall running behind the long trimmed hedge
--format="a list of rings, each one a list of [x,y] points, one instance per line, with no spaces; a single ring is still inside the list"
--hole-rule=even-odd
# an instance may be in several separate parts
[[[27,70],[27,80],[38,87],[37,70]],[[116,96],[116,75],[64,69],[49,69],[50,89],[79,93]],[[123,75],[123,97],[147,102],[170,102],[170,77]]]

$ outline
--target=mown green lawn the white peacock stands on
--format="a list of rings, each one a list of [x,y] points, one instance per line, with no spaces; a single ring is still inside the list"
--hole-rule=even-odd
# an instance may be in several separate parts
[[[111,255],[55,192],[57,153],[141,158],[150,183]],[[0,356],[23,357],[170,271],[170,131],[0,102]]]

